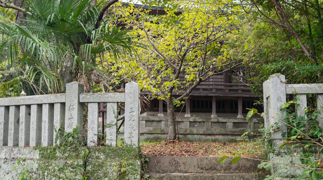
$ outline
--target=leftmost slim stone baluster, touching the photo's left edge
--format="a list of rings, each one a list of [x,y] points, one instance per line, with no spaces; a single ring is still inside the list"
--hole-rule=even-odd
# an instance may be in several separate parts
[[[0,106],[0,146],[8,145],[9,108]]]

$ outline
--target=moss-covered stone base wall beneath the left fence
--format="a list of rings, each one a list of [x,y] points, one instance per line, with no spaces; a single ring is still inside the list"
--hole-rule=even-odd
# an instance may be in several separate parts
[[[141,176],[138,147],[2,146],[0,164],[1,180],[20,176],[57,180],[138,180]],[[124,168],[123,172],[121,168]]]

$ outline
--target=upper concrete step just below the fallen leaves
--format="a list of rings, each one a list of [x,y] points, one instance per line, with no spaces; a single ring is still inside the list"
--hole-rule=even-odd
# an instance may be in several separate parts
[[[241,158],[232,164],[234,157],[228,157],[226,161],[219,164],[221,157],[182,157],[182,156],[149,156],[146,174],[191,174],[208,173],[233,174],[233,173],[264,173],[258,168],[260,160]]]

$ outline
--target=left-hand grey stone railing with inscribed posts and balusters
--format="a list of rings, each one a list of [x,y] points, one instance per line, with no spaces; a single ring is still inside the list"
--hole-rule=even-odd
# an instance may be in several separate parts
[[[99,103],[108,103],[105,129],[106,144],[116,144],[117,103],[125,103],[125,132],[127,144],[139,145],[139,93],[137,83],[126,84],[125,93],[83,93],[84,85],[72,82],[66,93],[0,98],[0,146],[51,146],[57,130],[83,130],[83,103],[88,103],[88,146],[97,145]]]

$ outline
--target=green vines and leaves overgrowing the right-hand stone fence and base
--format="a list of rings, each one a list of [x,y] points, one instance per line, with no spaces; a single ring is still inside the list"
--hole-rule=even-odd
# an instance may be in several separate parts
[[[263,141],[267,147],[266,153],[271,156],[271,159],[263,161],[258,167],[268,171],[276,168],[276,171],[272,171],[273,174],[268,175],[266,180],[286,175],[296,179],[309,176],[311,179],[323,177],[322,157],[320,156],[323,150],[323,134],[319,120],[321,110],[307,107],[304,109],[304,114],[297,113],[295,109],[300,106],[297,103],[299,100],[295,96],[295,101],[289,101],[281,106],[282,119],[271,117],[276,119],[277,122],[281,122],[282,126],[275,123],[260,130],[264,133]],[[257,112],[255,109],[250,109],[248,114],[253,115]],[[263,114],[263,116],[266,116],[266,114]],[[272,144],[271,135],[279,130],[286,139],[279,147],[276,147]],[[237,155],[237,157],[240,157],[240,154]],[[225,157],[223,160],[225,160]]]

